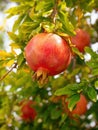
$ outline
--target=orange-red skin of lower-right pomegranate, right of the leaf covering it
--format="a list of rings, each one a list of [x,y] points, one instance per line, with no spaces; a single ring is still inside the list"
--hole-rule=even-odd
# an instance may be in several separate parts
[[[72,115],[83,115],[87,111],[87,100],[84,95],[80,95],[80,100],[77,102],[76,107],[71,112]]]

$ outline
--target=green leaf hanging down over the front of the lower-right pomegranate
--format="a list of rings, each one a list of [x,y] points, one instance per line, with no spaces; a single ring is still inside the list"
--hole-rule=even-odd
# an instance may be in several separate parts
[[[75,107],[75,105],[79,101],[79,99],[80,99],[80,94],[74,94],[69,98],[68,108],[70,111],[73,110],[73,108]]]

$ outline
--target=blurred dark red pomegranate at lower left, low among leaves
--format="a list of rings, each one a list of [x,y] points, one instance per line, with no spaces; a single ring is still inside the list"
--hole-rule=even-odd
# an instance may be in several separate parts
[[[37,113],[36,110],[32,107],[34,105],[34,102],[32,100],[24,100],[21,103],[21,118],[24,121],[31,121],[34,120]]]

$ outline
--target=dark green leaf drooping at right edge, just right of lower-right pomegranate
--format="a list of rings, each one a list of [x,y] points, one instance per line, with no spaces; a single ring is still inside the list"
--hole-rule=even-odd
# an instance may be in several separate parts
[[[87,95],[93,101],[97,101],[97,91],[93,87],[87,88]]]

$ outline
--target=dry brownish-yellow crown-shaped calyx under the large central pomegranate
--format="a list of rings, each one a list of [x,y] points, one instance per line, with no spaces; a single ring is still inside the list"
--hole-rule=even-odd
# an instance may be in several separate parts
[[[48,72],[45,69],[38,69],[32,76],[33,80],[37,80],[39,87],[42,88],[48,82]]]

